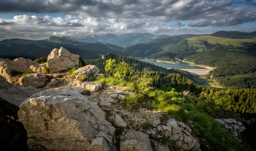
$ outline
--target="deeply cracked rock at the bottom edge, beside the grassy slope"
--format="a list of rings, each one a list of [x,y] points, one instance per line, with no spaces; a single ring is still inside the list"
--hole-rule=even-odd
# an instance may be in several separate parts
[[[191,129],[184,123],[168,119],[166,126],[162,127],[165,135],[170,135],[170,139],[176,142],[180,150],[200,150],[200,144],[190,134]]]

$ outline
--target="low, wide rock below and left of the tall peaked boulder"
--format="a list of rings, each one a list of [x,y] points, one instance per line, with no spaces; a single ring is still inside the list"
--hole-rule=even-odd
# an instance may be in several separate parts
[[[48,78],[45,75],[34,73],[28,76],[11,77],[10,82],[14,85],[34,86],[36,88],[42,88]]]

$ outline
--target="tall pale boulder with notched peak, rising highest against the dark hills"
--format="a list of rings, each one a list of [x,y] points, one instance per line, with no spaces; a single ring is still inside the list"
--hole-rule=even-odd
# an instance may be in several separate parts
[[[59,72],[79,66],[79,55],[71,54],[67,49],[54,48],[47,57],[47,66],[50,73]]]

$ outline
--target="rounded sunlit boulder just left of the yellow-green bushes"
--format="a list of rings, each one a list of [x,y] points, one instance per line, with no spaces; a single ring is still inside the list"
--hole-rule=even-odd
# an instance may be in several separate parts
[[[96,78],[99,76],[99,72],[100,70],[95,65],[87,65],[77,69],[75,71],[75,77],[85,76],[85,79],[89,79],[89,77]]]

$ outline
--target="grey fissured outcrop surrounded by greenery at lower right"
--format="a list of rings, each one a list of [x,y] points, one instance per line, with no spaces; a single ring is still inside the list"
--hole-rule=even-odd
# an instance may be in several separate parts
[[[235,119],[214,119],[214,122],[223,125],[234,137],[245,130],[243,123]]]

